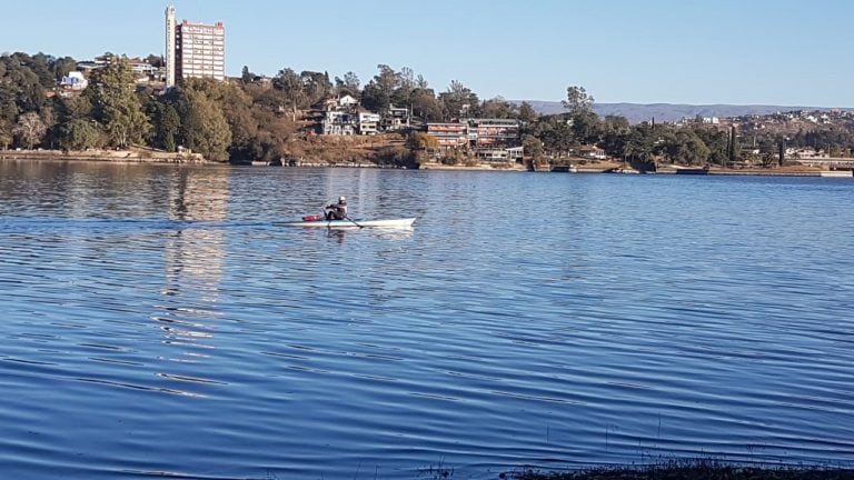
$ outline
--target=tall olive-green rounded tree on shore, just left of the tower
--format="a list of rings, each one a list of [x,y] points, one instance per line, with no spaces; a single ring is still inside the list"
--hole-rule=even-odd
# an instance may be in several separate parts
[[[109,56],[108,64],[92,72],[86,92],[110,146],[123,149],[142,141],[151,124],[135,93],[133,72],[127,58]]]

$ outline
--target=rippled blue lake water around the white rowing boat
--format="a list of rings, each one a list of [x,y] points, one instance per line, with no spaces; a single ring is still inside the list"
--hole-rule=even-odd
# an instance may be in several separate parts
[[[347,194],[404,230],[277,226]],[[0,161],[0,477],[854,464],[854,182]]]

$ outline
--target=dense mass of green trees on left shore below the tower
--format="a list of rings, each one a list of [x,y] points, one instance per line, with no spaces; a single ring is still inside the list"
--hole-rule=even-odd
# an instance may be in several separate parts
[[[72,59],[1,56],[0,147],[141,146],[173,152],[180,146],[209,160],[247,162],[280,159],[297,130],[292,119],[280,112],[287,100],[302,98],[294,92],[192,79],[161,96],[135,86],[126,58],[106,57],[107,64],[92,71],[82,94],[61,96],[56,94],[60,92],[57,82],[73,68]],[[325,94],[328,80],[318,87],[312,82],[322,76],[306,77],[305,84],[299,83],[306,101]]]

